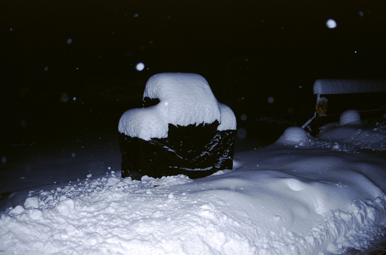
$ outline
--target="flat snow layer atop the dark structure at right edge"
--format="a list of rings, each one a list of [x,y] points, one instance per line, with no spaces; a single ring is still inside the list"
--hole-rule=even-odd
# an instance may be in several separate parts
[[[313,84],[313,94],[352,94],[386,92],[385,80],[319,79]]]

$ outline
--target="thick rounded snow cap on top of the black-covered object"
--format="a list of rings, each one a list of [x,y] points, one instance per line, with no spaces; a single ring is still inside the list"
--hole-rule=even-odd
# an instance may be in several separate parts
[[[231,108],[217,101],[200,75],[179,72],[154,75],[146,83],[145,97],[160,102],[125,112],[119,120],[120,133],[144,140],[165,138],[168,124],[187,126],[216,120],[220,123],[218,131],[236,129]]]

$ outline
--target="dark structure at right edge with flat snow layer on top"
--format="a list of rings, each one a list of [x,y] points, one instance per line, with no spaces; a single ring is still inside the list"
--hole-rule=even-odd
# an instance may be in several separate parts
[[[323,125],[338,122],[347,110],[358,111],[361,119],[385,116],[385,80],[319,79],[313,84],[313,94],[317,95],[315,114],[302,126],[312,136]]]

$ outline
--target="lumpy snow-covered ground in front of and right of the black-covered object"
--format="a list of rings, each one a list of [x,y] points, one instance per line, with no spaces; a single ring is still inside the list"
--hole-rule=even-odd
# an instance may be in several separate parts
[[[12,207],[0,216],[0,254],[362,249],[385,238],[385,150],[385,120],[335,123],[319,138],[290,128],[267,147],[236,153],[233,171],[196,180],[122,179],[116,166],[86,178],[92,168],[79,170],[79,180],[31,189],[25,197],[11,193]],[[71,172],[82,160],[64,169]]]

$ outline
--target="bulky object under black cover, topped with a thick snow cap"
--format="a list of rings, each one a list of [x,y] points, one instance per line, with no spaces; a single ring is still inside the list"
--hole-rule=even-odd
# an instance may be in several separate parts
[[[131,109],[119,120],[122,177],[200,178],[232,169],[236,117],[202,76],[154,75],[143,99],[143,108]]]

